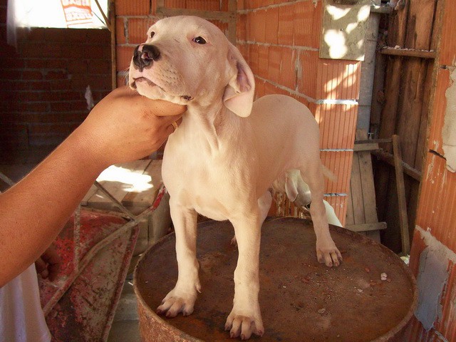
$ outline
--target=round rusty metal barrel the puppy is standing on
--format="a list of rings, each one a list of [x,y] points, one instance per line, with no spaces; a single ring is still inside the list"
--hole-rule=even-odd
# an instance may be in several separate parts
[[[266,219],[261,228],[259,303],[264,336],[254,341],[403,341],[417,304],[408,266],[368,237],[339,227],[331,236],[341,266],[318,264],[312,222]],[[145,252],[135,269],[141,341],[233,341],[224,331],[232,309],[237,248],[229,222],[199,224],[202,293],[192,315],[155,314],[177,280],[175,235]]]

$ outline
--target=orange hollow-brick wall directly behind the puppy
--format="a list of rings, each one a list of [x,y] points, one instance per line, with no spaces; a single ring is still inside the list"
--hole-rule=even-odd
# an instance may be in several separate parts
[[[133,50],[157,20],[156,1],[117,0],[118,81]],[[165,7],[227,11],[228,1],[167,0]],[[321,130],[321,158],[338,177],[326,182],[326,199],[345,222],[346,195],[356,130],[361,63],[318,58],[322,1],[238,0],[237,46],[252,68],[257,97],[291,95],[309,106]],[[227,24],[217,24],[223,31]],[[340,103],[341,100],[346,102]]]

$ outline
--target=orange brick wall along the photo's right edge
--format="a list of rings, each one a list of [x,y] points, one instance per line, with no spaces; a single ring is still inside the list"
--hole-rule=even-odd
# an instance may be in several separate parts
[[[442,127],[445,120],[450,87],[450,71],[456,68],[456,40],[454,21],[455,1],[445,1],[442,37],[438,51],[440,68],[437,72],[435,100],[432,105],[428,136],[428,152],[423,167],[416,228],[413,236],[410,266],[418,279],[418,291],[423,302],[432,302],[437,307],[432,328],[426,330],[423,323],[414,319],[409,326],[410,342],[456,341],[456,174],[446,168],[442,157]],[[426,259],[432,254],[432,267],[426,268]],[[432,286],[424,286],[420,278],[432,278],[435,269],[446,270],[445,278],[435,276]],[[430,275],[428,274],[430,272]],[[442,291],[432,294],[432,288],[442,286]]]

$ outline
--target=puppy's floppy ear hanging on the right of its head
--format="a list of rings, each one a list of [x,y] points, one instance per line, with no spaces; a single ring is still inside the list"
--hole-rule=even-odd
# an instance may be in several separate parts
[[[254,102],[254,74],[239,50],[232,43],[229,43],[228,58],[229,63],[236,66],[237,75],[234,75],[225,87],[223,102],[225,107],[233,113],[242,118],[247,118],[252,112],[252,104]]]

